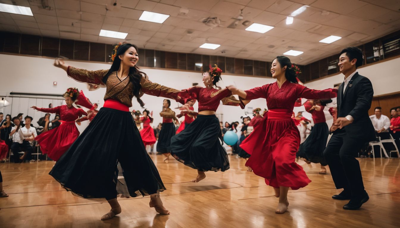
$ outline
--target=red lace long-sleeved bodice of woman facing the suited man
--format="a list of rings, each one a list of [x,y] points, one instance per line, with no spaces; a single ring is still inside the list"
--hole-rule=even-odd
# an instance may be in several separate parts
[[[300,98],[322,99],[333,98],[337,96],[337,89],[315,90],[308,89],[304,85],[285,81],[279,89],[278,83],[270,83],[245,91],[246,100],[264,98],[267,101],[267,107],[271,109],[288,109],[293,111],[295,101]]]

